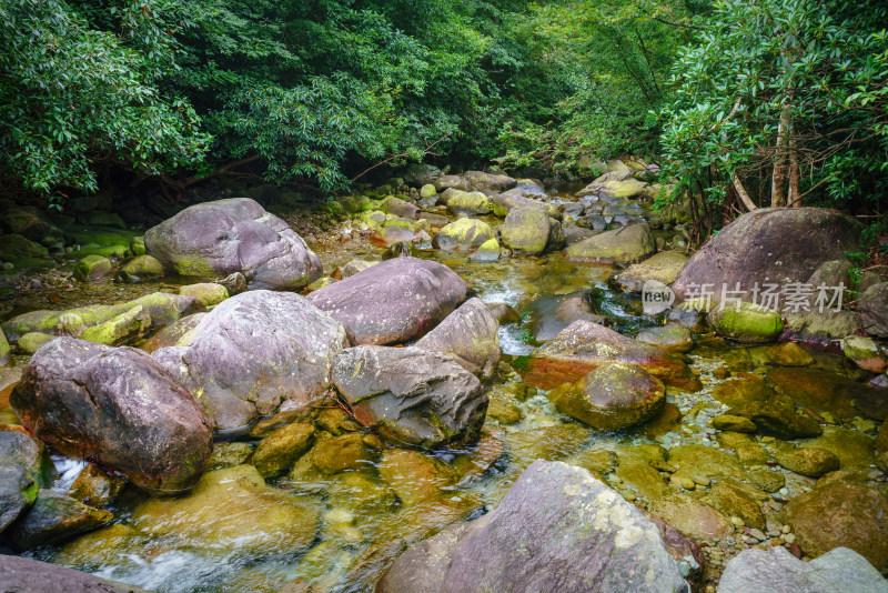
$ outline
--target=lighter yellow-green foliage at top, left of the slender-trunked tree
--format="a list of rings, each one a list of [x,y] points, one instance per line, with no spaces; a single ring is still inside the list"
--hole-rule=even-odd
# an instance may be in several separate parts
[[[533,58],[553,83],[546,124],[521,112],[502,130],[505,165],[566,169],[583,158],[652,152],[676,49],[708,2],[572,0],[535,7]],[[542,119],[542,118],[541,118]]]

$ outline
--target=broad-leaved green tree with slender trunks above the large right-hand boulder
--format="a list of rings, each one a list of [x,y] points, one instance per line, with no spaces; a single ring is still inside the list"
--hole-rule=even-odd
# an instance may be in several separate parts
[[[775,162],[796,159],[804,203],[884,194],[888,8],[838,0],[714,8],[682,50],[660,111],[664,155],[680,185],[722,204],[737,179],[767,203]]]

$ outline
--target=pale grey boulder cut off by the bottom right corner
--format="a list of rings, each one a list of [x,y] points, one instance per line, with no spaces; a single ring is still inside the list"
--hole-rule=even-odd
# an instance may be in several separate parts
[[[867,559],[847,547],[836,547],[810,562],[803,562],[786,547],[750,547],[734,556],[718,593],[791,591],[794,593],[887,593],[888,583]]]

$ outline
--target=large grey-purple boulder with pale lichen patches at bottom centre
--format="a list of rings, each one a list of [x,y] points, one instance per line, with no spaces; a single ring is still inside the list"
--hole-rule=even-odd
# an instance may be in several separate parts
[[[405,552],[380,593],[687,592],[657,525],[586,470],[537,460],[492,513]]]

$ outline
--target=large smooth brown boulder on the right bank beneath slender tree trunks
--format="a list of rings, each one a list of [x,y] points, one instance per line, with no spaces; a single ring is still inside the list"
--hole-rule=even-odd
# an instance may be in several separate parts
[[[807,282],[826,261],[857,251],[862,225],[836,210],[763,208],[748,212],[706,242],[673,284],[679,301],[709,285],[714,301],[722,285],[753,294],[756,284]]]

